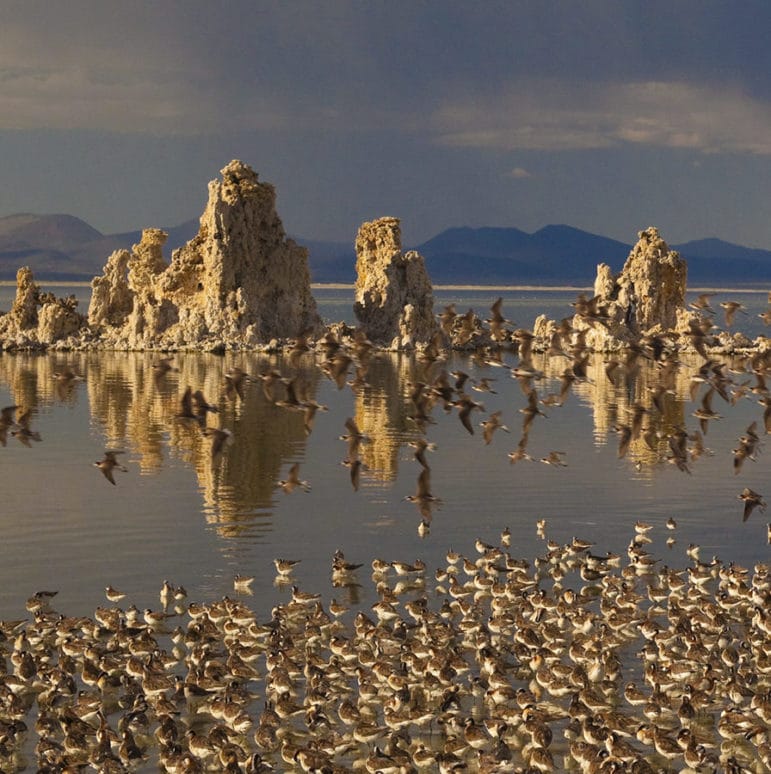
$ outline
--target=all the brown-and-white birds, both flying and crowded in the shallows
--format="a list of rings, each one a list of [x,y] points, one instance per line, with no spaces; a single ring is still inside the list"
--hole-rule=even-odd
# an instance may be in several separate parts
[[[754,399],[763,415],[740,434],[733,473],[756,460],[771,431],[771,354],[730,361],[712,355],[709,302],[708,294],[694,302],[703,322],[686,335],[704,361],[691,378],[699,429],[665,422],[675,376],[685,367],[676,339],[650,336],[605,362],[604,378],[628,394],[643,362],[657,374],[614,428],[619,458],[641,439],[662,462],[690,473],[708,453],[709,424],[722,418],[715,402]],[[735,302],[723,308],[727,326],[743,311]],[[605,324],[595,299],[579,297],[575,309],[586,325]],[[530,434],[589,379],[591,358],[585,328],[563,320],[545,356],[564,358],[565,368],[558,391],[545,393],[549,379],[536,365],[535,336],[510,327],[500,299],[487,320],[450,306],[439,323],[441,333],[416,355],[406,396],[419,473],[405,500],[418,508],[421,534],[441,503],[429,464],[435,414],[457,411],[468,435],[482,428],[486,445],[499,431],[512,432],[506,422],[514,426],[503,410],[481,419],[485,406],[470,393],[494,395],[496,380],[448,372],[445,341],[519,383],[523,418],[512,464],[568,464],[558,450],[531,456]],[[326,407],[307,399],[292,375],[306,355],[319,358],[338,389],[355,391],[367,384],[374,348],[360,331],[350,339],[330,331],[315,345],[300,336],[286,354],[286,372],[232,368],[224,399],[243,400],[250,384],[261,383],[265,399],[301,413],[310,434]],[[156,379],[174,368],[173,358],[159,360]],[[19,408],[0,412],[3,444],[8,432],[26,445],[41,440],[31,412],[16,415]],[[209,424],[217,414],[217,404],[186,386],[174,417],[210,440],[213,464],[238,442]],[[357,490],[368,439],[348,418],[340,440],[341,463]],[[94,463],[113,485],[115,470],[125,470],[121,453],[109,449]],[[286,494],[310,490],[298,463],[276,486]],[[744,520],[766,508],[748,487],[737,498]],[[545,525],[538,528],[539,556],[512,556],[504,530],[496,544],[478,539],[476,557],[448,552],[433,581],[420,561],[377,559],[377,601],[368,609],[325,604],[321,594],[301,591],[291,559],[275,562],[291,596],[262,620],[244,601],[253,581],[245,576],[234,581],[235,598],[209,604],[189,602],[183,589],[164,583],[161,609],[144,612],[121,605],[121,592],[108,587],[110,605],[91,617],[66,616],[54,609],[54,592],[37,592],[27,603],[30,619],[0,622],[0,769],[107,774],[152,762],[170,772],[231,773],[769,770],[768,568],[702,561],[693,547],[690,563],[672,569],[647,551],[652,527],[642,522],[626,558],[595,554],[578,538],[560,545],[546,538]],[[358,584],[360,568],[338,551],[333,587]],[[27,760],[33,725],[35,764]]]

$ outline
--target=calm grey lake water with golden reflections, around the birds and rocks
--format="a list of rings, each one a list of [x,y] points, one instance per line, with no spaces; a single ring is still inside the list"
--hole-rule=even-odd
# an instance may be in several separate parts
[[[471,306],[486,312],[496,295],[438,291],[437,309],[454,301],[461,310]],[[316,291],[316,296],[325,319],[352,320],[350,291]],[[504,311],[515,324],[527,326],[543,311],[569,314],[574,297],[510,291],[504,294]],[[742,329],[756,335],[761,330],[754,315],[765,308],[766,295],[742,294],[741,299],[751,313]],[[513,365],[516,358],[510,359]],[[484,402],[487,413],[500,410],[511,432],[499,431],[485,445],[480,428],[470,436],[456,411],[434,408],[426,435],[437,444],[430,456],[432,491],[442,502],[429,534],[421,537],[418,512],[404,500],[414,493],[419,473],[407,444],[420,435],[408,418],[410,383],[427,376],[420,363],[378,355],[369,372],[371,386],[354,394],[349,387],[338,390],[313,355],[295,369],[280,357],[185,354],[175,358],[179,371],[158,382],[153,362],[149,354],[0,356],[2,405],[32,407],[32,427],[43,439],[26,448],[9,436],[0,448],[0,618],[23,617],[26,599],[40,589],[58,590],[57,609],[68,614],[91,614],[104,604],[107,584],[126,592],[126,603],[140,609],[158,606],[164,579],[186,586],[191,599],[211,600],[233,593],[236,573],[256,576],[253,604],[267,614],[287,597],[286,589],[273,583],[276,557],[300,560],[295,576],[301,588],[326,598],[337,594],[356,601],[358,596],[368,604],[374,601],[369,584],[332,588],[336,549],[367,565],[375,557],[422,558],[433,568],[444,563],[449,547],[473,552],[476,538],[494,542],[508,526],[512,553],[532,558],[544,550],[535,529],[541,518],[550,538],[564,542],[577,535],[595,541],[597,551],[614,552],[625,550],[636,520],[649,521],[656,525],[652,551],[673,564],[685,561],[690,543],[702,546],[703,557],[717,554],[749,566],[767,561],[771,553],[766,516],[756,512],[742,523],[737,500],[745,486],[771,496],[766,492],[771,456],[760,454],[738,476],[732,470],[738,437],[754,419],[762,426],[754,396],[734,406],[716,398],[713,407],[723,418],[708,429],[705,441],[712,453],[693,463],[691,475],[657,460],[642,441],[619,459],[613,426],[628,421],[626,407],[632,402],[649,399],[647,386],[655,376],[643,368],[637,381],[615,388],[598,357],[590,381],[576,385],[564,406],[546,408],[548,418],[538,417],[530,432],[528,451],[536,460],[558,450],[567,466],[512,465],[507,455],[520,437],[522,390],[507,369],[453,356],[443,366],[448,371],[496,379],[491,382],[495,394],[472,395]],[[539,394],[557,391],[566,361],[538,364],[546,373],[537,384]],[[62,391],[53,372],[65,365],[85,381]],[[229,401],[224,373],[234,365],[250,373],[277,368],[299,375],[307,397],[328,411],[318,413],[306,435],[302,416],[270,404],[259,383],[247,386],[243,401]],[[692,416],[696,405],[688,399],[689,369],[697,365],[685,364],[679,372],[677,394],[666,398],[663,432],[698,426]],[[209,423],[233,432],[234,443],[216,464],[198,428],[175,419],[187,385],[219,406]],[[349,416],[369,439],[362,446],[367,469],[358,491],[341,464],[346,446],[338,437]],[[478,425],[484,415],[474,412],[473,418]],[[105,448],[125,450],[121,459],[129,470],[116,472],[116,486],[91,464]],[[665,452],[662,441],[659,457]],[[285,494],[277,488],[294,462],[311,491]],[[668,548],[664,523],[670,516],[679,527]]]

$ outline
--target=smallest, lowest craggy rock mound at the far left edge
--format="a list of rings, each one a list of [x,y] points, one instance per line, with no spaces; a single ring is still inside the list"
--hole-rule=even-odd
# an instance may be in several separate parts
[[[43,293],[32,271],[16,273],[16,298],[10,312],[0,317],[0,341],[4,349],[45,349],[50,345],[73,346],[73,337],[84,330],[86,319],[77,311],[74,296],[56,298]]]

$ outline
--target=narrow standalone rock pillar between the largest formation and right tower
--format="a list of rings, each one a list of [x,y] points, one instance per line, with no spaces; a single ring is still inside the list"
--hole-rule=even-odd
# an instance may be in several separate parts
[[[426,344],[438,330],[423,257],[414,250],[402,252],[398,218],[380,218],[359,228],[355,290],[356,319],[378,346]]]

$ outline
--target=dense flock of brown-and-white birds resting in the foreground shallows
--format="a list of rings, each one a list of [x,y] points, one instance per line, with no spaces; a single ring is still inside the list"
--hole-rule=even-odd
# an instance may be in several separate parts
[[[545,530],[532,559],[507,529],[433,573],[375,559],[358,608],[289,559],[262,615],[243,576],[205,604],[164,581],[143,611],[108,586],[91,616],[39,591],[0,622],[0,769],[768,771],[768,567],[664,565],[639,521],[626,556]],[[361,567],[337,551],[332,587]]]

